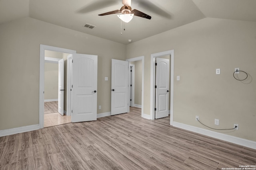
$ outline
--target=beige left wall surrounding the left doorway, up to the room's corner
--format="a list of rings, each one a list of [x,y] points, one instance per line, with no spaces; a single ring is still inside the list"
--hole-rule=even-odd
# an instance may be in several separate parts
[[[111,59],[125,60],[126,45],[22,18],[0,25],[0,130],[39,123],[40,44],[98,55],[98,113],[110,111]]]

